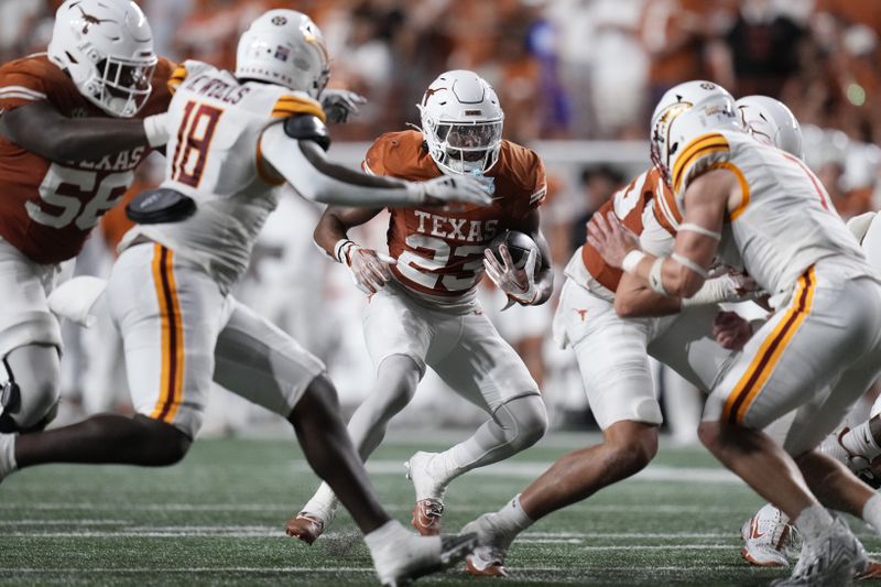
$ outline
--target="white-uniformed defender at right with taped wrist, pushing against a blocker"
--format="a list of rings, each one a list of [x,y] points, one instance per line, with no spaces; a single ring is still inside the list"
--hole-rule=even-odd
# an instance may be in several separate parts
[[[698,84],[698,99],[673,88],[675,104],[652,118],[653,160],[674,194],[665,210],[674,251],[642,251],[611,216],[590,236],[607,262],[664,296],[694,295],[726,249],[771,293],[775,312],[714,384],[700,439],[804,536],[783,584],[847,584],[866,568],[866,552],[815,492],[873,528],[881,497],[815,448],[881,368],[881,283],[805,164],[753,140],[730,95]],[[782,446],[761,432],[794,409]]]

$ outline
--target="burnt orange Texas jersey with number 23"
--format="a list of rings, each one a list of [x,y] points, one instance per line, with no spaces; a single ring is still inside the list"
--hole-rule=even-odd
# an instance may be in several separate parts
[[[371,145],[365,172],[407,181],[440,176],[417,131],[391,132]],[[490,206],[392,208],[389,252],[391,270],[411,290],[434,296],[460,296],[474,290],[483,273],[483,250],[502,229],[516,228],[547,192],[544,163],[530,149],[502,141],[498,162],[487,172],[493,186]]]

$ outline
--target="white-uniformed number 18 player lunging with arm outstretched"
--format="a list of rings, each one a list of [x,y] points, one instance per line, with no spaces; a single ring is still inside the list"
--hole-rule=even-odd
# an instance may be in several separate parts
[[[389,518],[346,433],[324,365],[229,290],[285,182],[309,199],[346,205],[481,206],[489,194],[467,177],[415,183],[330,163],[316,101],[329,76],[328,54],[320,31],[300,12],[258,18],[239,41],[235,74],[198,62],[183,68],[185,80],[168,107],[174,131],[165,181],[154,194],[159,202],[189,197],[197,208],[175,222],[131,229],[105,294],[123,339],[137,415],[0,435],[0,478],[44,463],[172,465],[199,430],[214,380],[291,422],[311,466],[365,533],[383,583],[464,556],[468,536],[421,537]],[[75,282],[67,284],[72,295]]]

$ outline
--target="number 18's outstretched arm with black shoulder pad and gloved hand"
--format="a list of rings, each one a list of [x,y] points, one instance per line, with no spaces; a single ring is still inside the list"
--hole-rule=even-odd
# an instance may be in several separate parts
[[[314,116],[298,115],[263,131],[263,160],[306,199],[340,206],[407,207],[461,202],[479,206],[491,202],[474,177],[443,176],[428,182],[405,182],[367,175],[327,160],[329,138]]]

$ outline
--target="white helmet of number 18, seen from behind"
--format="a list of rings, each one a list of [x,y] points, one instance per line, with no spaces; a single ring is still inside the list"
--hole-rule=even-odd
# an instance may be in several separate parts
[[[318,99],[330,78],[322,31],[295,10],[264,12],[239,39],[236,77],[286,86]]]

